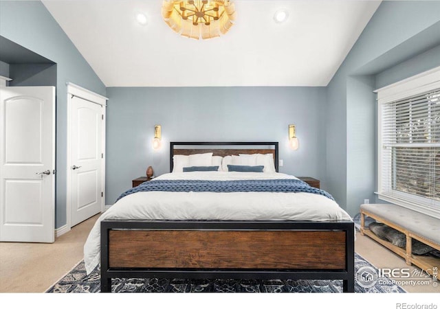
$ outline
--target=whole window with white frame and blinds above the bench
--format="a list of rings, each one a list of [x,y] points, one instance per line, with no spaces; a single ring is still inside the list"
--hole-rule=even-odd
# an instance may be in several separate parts
[[[377,90],[379,198],[440,217],[440,69]]]

